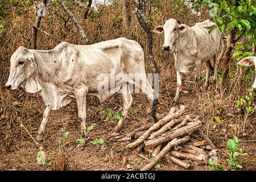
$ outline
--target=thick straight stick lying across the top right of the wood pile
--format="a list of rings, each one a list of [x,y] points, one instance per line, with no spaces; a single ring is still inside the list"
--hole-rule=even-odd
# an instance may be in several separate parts
[[[202,126],[202,122],[198,120],[196,122],[193,122],[193,125],[181,127],[180,129],[171,131],[169,133],[162,134],[158,138],[146,140],[144,143],[147,148],[153,148],[153,147],[158,146],[159,144],[161,144],[163,142],[167,142],[171,139],[181,137],[182,135],[191,134],[195,130],[199,129],[201,126]]]

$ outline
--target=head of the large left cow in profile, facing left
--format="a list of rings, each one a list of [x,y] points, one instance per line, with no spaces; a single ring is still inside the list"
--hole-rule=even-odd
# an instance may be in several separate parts
[[[34,53],[22,46],[13,53],[10,60],[10,75],[5,85],[7,89],[15,90],[22,85],[29,93],[39,92],[41,88],[38,87],[37,81],[31,78],[36,69],[34,59]]]

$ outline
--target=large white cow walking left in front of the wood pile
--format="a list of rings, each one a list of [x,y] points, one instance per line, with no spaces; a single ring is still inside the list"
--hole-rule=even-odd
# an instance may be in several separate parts
[[[69,104],[74,98],[81,119],[82,136],[85,136],[86,96],[97,96],[102,102],[121,90],[124,118],[119,120],[114,129],[118,132],[133,102],[127,82],[143,90],[153,104],[151,116],[157,119],[157,98],[147,81],[143,49],[134,40],[119,38],[89,46],[63,42],[49,51],[19,47],[10,62],[6,88],[15,90],[21,85],[28,93],[39,92],[46,105],[38,130],[38,141],[42,140],[50,111]],[[130,73],[140,77],[134,79]]]

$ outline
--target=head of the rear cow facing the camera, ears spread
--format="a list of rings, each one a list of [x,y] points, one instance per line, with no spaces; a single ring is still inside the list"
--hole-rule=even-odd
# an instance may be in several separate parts
[[[181,24],[179,20],[173,18],[167,20],[164,26],[157,26],[153,32],[162,34],[165,32],[165,43],[163,44],[164,51],[174,51],[176,40],[180,34],[187,31],[186,25]]]

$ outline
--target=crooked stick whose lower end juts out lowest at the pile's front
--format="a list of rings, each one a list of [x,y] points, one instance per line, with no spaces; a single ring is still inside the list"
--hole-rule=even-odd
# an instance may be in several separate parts
[[[171,150],[171,148],[176,147],[179,144],[186,143],[189,139],[190,139],[189,135],[186,135],[181,139],[174,138],[173,140],[171,140],[171,142],[166,144],[166,146],[159,152],[157,156],[155,156],[155,162],[150,162],[149,164],[144,166],[141,169],[141,171],[149,171],[155,166],[155,164],[159,162],[159,160],[163,158],[163,156],[165,156]]]

